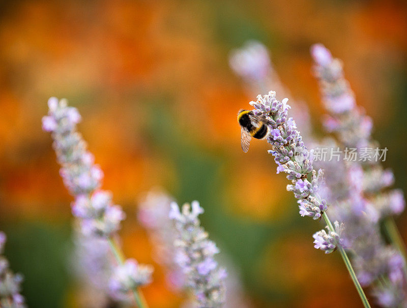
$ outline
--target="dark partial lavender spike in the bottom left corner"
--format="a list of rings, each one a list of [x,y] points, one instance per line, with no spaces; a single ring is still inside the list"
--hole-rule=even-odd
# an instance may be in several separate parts
[[[0,307],[24,308],[24,297],[20,294],[22,275],[14,274],[7,259],[1,255],[6,239],[6,234],[0,231]]]

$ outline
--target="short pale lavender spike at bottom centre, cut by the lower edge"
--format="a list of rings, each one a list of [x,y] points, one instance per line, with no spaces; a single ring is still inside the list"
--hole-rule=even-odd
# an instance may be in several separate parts
[[[191,209],[192,206],[192,209]],[[186,275],[186,287],[195,294],[199,307],[221,307],[225,300],[226,270],[218,266],[214,255],[219,253],[208,233],[200,227],[198,215],[203,208],[197,201],[185,203],[182,211],[175,202],[169,212],[176,229],[176,262]]]

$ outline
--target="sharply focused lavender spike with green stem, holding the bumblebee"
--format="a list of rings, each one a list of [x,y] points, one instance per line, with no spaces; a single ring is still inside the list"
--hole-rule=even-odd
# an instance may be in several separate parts
[[[322,249],[326,253],[336,249],[339,251],[363,305],[370,307],[351,262],[342,247],[340,239],[342,228],[337,222],[334,228],[326,213],[328,205],[319,191],[319,188],[323,186],[323,171],[319,169],[317,172],[313,169],[313,152],[304,145],[294,119],[288,117],[288,110],[291,107],[287,101],[288,99],[278,101],[275,91],[270,91],[268,95],[258,95],[257,100],[250,102],[250,105],[254,107],[254,114],[264,116],[268,121],[269,131],[273,132],[267,138],[272,145],[272,150],[269,152],[274,156],[274,161],[278,166],[277,173],[285,172],[287,179],[292,182],[287,186],[287,190],[292,191],[299,199],[300,214],[314,219],[323,217],[327,223],[328,233],[322,230],[314,234],[315,248]]]

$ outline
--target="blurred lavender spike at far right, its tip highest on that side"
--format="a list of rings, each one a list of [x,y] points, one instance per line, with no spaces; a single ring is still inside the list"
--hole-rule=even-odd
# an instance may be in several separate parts
[[[317,52],[315,52],[317,50]],[[321,88],[321,95],[323,102],[328,110],[329,117],[329,131],[334,132],[343,147],[357,148],[359,151],[369,145],[376,144],[371,137],[372,120],[364,114],[364,110],[355,104],[353,92],[348,85],[348,82],[343,77],[342,64],[340,60],[329,57],[325,61],[321,61],[318,54],[329,53],[321,44],[316,44],[311,47],[311,54],[315,60],[314,72],[319,80]],[[337,100],[340,97],[347,97],[346,100]],[[349,103],[348,101],[352,101]],[[336,125],[332,125],[335,122]],[[364,164],[363,178],[363,191],[366,194],[381,194],[382,190],[390,187],[394,183],[394,176],[391,170],[384,170],[379,159],[374,157],[372,162],[359,162]],[[401,197],[401,195],[399,195]],[[404,202],[398,199],[388,199],[389,210],[381,210],[383,218],[398,214],[401,212],[401,207]],[[396,202],[392,206],[391,202]],[[383,204],[383,203],[382,203]],[[378,204],[380,207],[382,204]],[[393,211],[392,209],[395,209]]]

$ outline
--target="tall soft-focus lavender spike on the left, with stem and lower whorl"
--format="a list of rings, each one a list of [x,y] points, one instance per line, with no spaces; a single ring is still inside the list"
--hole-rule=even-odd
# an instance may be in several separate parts
[[[103,172],[94,164],[92,153],[76,131],[80,121],[78,110],[69,107],[66,100],[48,100],[48,115],[42,119],[44,131],[51,132],[57,161],[62,166],[60,174],[65,186],[75,197],[72,213],[79,220],[84,236],[95,236],[108,241],[117,260],[117,268],[110,279],[110,291],[117,297],[125,297],[130,291],[139,308],[141,301],[137,287],[150,282],[151,267],[141,266],[134,260],[125,261],[112,236],[120,229],[125,213],[119,205],[113,205],[110,192],[100,190]],[[120,274],[118,274],[120,273]]]

